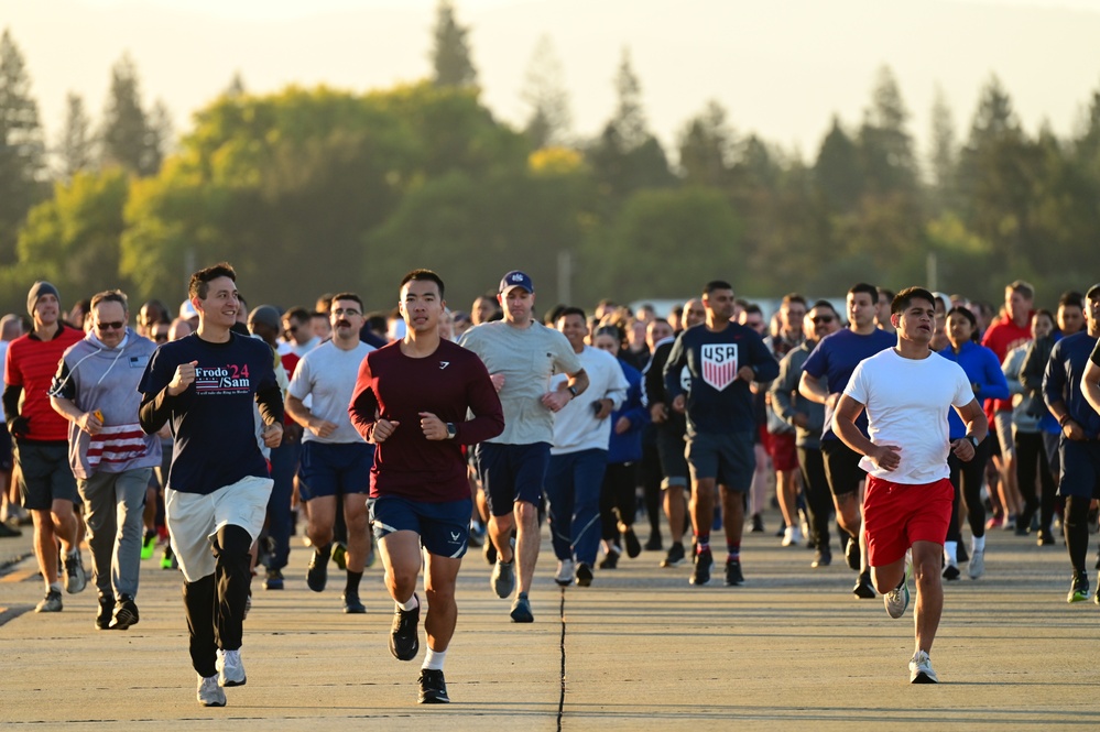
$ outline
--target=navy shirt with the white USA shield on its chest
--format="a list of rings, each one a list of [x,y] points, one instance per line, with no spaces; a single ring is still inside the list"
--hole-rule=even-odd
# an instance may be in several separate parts
[[[754,381],[780,375],[778,361],[748,326],[731,323],[716,332],[698,325],[679,335],[665,362],[665,391],[669,401],[684,393],[680,372],[687,367],[691,378],[685,409],[688,435],[756,429],[749,382],[737,375],[745,365],[752,368]]]

